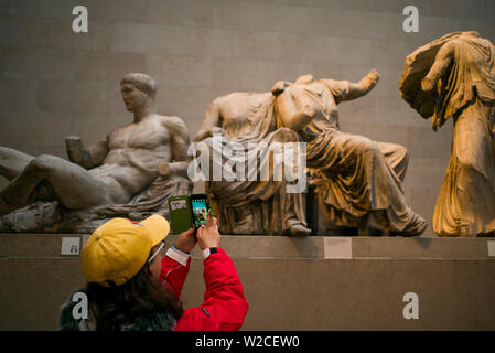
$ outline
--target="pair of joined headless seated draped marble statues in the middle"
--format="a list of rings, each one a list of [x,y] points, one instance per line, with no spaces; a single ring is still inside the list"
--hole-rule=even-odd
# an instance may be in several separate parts
[[[276,83],[271,93],[219,97],[208,107],[195,141],[213,149],[212,137],[222,133],[245,148],[251,141],[305,142],[310,183],[332,224],[420,235],[427,223],[412,212],[402,191],[406,149],[338,129],[337,104],[365,95],[377,82],[376,71],[359,83],[304,75],[294,83]],[[222,231],[309,234],[304,193],[288,193],[286,182],[207,181],[223,217]]]

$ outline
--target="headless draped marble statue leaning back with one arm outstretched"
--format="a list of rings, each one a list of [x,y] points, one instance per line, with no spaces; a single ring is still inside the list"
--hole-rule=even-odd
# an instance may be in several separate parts
[[[337,226],[368,226],[403,236],[427,223],[408,205],[401,181],[408,157],[402,146],[340,131],[337,105],[367,94],[378,82],[372,71],[359,83],[299,77],[273,86],[279,125],[308,142],[308,168],[320,206]]]

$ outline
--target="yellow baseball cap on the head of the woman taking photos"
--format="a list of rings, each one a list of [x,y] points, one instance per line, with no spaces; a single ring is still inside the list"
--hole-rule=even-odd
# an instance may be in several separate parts
[[[136,276],[144,266],[151,248],[169,235],[169,222],[152,215],[137,223],[112,218],[93,232],[83,248],[83,272],[88,282],[109,287]]]

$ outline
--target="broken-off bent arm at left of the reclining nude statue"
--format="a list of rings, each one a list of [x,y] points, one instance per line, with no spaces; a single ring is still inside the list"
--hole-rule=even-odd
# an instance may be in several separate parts
[[[101,140],[86,150],[79,137],[69,136],[65,139],[65,147],[69,161],[85,169],[100,165],[108,154],[107,140]]]

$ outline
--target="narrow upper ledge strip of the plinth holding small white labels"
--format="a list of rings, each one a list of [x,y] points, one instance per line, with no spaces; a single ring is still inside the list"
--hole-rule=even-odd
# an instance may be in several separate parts
[[[71,253],[65,248],[63,254],[63,243],[74,244],[75,240],[76,245],[84,246],[88,237],[82,234],[0,234],[0,257],[74,257],[79,252]],[[166,245],[171,246],[175,239],[175,235],[170,235]],[[233,258],[247,259],[495,259],[495,238],[480,237],[223,235],[220,247]],[[197,247],[193,258],[201,258]]]

